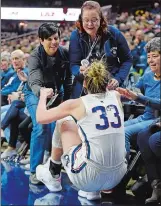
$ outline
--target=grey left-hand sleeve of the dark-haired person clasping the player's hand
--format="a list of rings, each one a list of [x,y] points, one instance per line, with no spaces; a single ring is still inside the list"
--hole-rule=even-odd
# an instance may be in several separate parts
[[[29,76],[28,85],[32,92],[39,97],[40,88],[43,87],[43,74],[41,71],[41,62],[36,54],[33,54],[29,58]]]

